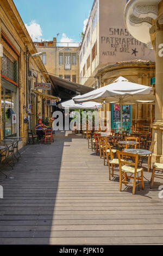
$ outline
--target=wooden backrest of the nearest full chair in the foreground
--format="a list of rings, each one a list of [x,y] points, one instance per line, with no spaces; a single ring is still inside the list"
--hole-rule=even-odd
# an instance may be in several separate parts
[[[125,165],[125,164],[127,164],[128,166],[135,167],[135,172],[137,172],[138,154],[132,154],[124,151],[117,151],[117,156],[118,156],[120,172],[122,170],[122,165]],[[132,159],[133,162],[129,161],[130,159]]]

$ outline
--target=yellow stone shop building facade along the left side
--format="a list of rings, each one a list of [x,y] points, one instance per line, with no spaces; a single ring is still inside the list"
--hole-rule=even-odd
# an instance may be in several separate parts
[[[39,116],[51,115],[45,99],[34,82],[49,83],[42,60],[12,0],[0,0],[0,129],[1,139],[22,136],[27,142],[27,129],[32,128]],[[36,54],[36,56],[33,56]],[[52,89],[49,94],[52,94]]]

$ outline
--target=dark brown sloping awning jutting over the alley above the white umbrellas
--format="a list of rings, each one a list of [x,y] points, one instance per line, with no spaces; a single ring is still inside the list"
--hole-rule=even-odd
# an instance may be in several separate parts
[[[50,75],[50,77],[54,86],[65,88],[76,94],[85,94],[93,90],[91,87],[83,86],[82,84],[79,84],[79,83],[67,81],[57,76]]]

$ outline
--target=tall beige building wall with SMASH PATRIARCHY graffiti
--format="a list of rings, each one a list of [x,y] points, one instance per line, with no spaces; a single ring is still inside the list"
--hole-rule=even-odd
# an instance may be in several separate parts
[[[82,76],[83,66],[86,66],[87,56],[91,56],[91,65],[86,68],[85,77],[81,79],[82,84],[95,86],[95,73],[103,66],[121,62],[124,60],[152,60],[155,61],[154,51],[147,48],[145,44],[136,40],[127,31],[123,12],[126,6],[126,0],[95,0],[90,13],[89,21],[85,35],[80,48],[82,57],[83,47],[87,40],[89,30],[92,32],[93,15],[97,11],[96,27],[91,34],[91,44],[85,51],[82,61],[80,60],[80,76]],[[92,62],[93,42],[97,39],[97,56]],[[96,66],[96,72],[95,72]],[[98,82],[96,81],[96,88]]]

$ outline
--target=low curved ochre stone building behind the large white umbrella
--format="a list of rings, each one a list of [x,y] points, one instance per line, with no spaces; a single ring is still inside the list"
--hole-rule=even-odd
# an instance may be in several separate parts
[[[118,77],[123,76],[129,82],[143,84],[145,86],[151,85],[151,78],[155,77],[155,62],[146,60],[130,60],[126,62],[118,62],[113,65],[104,66],[97,72],[96,79],[98,80],[99,87],[106,86],[114,82]],[[154,86],[154,85],[153,85]],[[137,108],[137,118],[136,118]],[[111,104],[104,104],[101,111],[104,111],[105,125],[107,121],[108,130],[117,127],[114,113],[111,113]],[[113,112],[113,109],[112,109]],[[107,114],[106,114],[107,113]],[[154,106],[147,104],[131,105],[131,120],[127,124],[130,128],[131,125],[135,127],[150,126],[154,118]],[[127,120],[129,118],[126,118]],[[114,122],[114,124],[113,124]],[[120,122],[119,122],[120,123]],[[115,127],[114,127],[115,125]],[[127,128],[127,127],[126,127]]]

